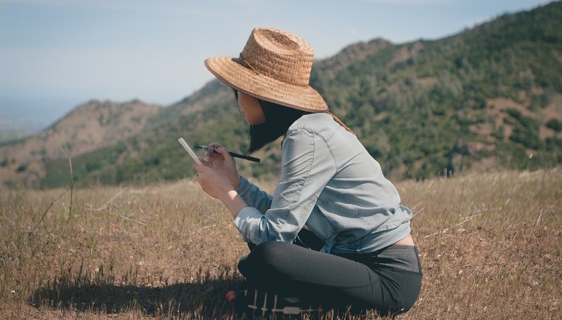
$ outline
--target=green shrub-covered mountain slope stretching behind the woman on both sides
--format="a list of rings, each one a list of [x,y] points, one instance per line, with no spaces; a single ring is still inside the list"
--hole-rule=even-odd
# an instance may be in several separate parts
[[[436,41],[392,44],[374,39],[315,61],[311,85],[393,179],[559,166],[561,29],[558,1]],[[232,91],[216,80],[174,105],[155,107],[143,119],[134,133],[106,131],[126,128],[126,122],[117,120],[100,130],[100,136],[107,137],[101,140],[110,142],[106,145],[93,147],[96,144],[84,138],[70,145],[61,142],[72,154],[76,182],[149,183],[189,177],[192,161],[176,141],[181,136],[191,144],[216,141],[233,151],[247,149],[248,129]],[[71,122],[65,122],[67,135],[88,136],[79,125],[70,128]],[[32,140],[39,137],[46,135]],[[27,152],[26,158],[12,154],[25,148],[11,148],[0,149],[0,177],[11,173],[4,180],[18,182],[37,166],[43,171],[29,178],[34,185],[69,183],[66,159],[51,158],[56,150],[41,156]],[[257,152],[259,164],[239,161],[242,173],[277,175],[279,149],[273,143]]]

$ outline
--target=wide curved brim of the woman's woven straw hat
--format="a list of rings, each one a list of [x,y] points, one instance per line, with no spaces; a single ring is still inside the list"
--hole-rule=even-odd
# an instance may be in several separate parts
[[[240,65],[237,58],[215,57],[205,67],[227,86],[261,100],[307,112],[327,112],[326,102],[311,86],[294,86],[277,81]]]

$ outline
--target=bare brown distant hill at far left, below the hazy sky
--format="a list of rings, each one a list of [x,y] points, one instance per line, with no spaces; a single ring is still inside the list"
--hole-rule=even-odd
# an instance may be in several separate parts
[[[93,100],[79,105],[46,131],[0,145],[0,178],[36,185],[46,176],[46,161],[67,161],[61,147],[74,157],[115,145],[143,131],[160,109],[138,100],[122,104]]]

